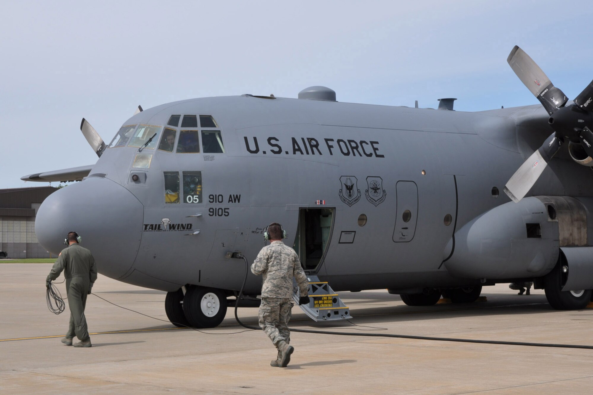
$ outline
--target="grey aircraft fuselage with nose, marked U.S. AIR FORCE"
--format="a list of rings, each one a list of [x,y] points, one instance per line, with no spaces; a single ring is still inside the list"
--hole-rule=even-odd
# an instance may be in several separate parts
[[[167,126],[187,114],[212,116],[216,127]],[[164,128],[177,136],[216,130],[224,152],[107,148],[87,179],[43,203],[37,233],[58,253],[63,235],[76,230],[99,272],[164,291],[187,284],[237,291],[245,266],[228,253],[253,261],[271,222],[336,291],[479,284],[482,276],[452,275],[443,265],[455,257],[452,237],[511,202],[503,187],[549,135],[545,114],[538,106],[463,113],[251,96],[164,104],[124,125],[157,127],[157,142]],[[533,119],[529,130],[516,125],[519,117]],[[148,167],[139,154],[150,155]],[[167,185],[175,173],[177,194]],[[528,196],[593,196],[592,177],[560,156]],[[527,266],[512,275],[551,269]],[[260,285],[249,274],[246,293]]]

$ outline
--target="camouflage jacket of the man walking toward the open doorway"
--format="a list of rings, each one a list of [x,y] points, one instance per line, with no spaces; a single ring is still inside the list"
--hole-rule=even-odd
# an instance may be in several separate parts
[[[282,241],[272,241],[257,254],[251,273],[263,275],[262,297],[292,298],[292,278],[297,280],[301,296],[307,296],[309,282],[295,250]]]

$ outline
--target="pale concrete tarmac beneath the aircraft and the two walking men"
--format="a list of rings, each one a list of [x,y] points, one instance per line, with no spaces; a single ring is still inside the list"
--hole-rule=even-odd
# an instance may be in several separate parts
[[[593,350],[292,333],[287,368],[259,330],[197,332],[168,323],[165,293],[99,276],[86,316],[93,348],[62,345],[69,311],[50,313],[51,264],[0,263],[0,393],[591,394]],[[61,281],[60,276],[58,281]],[[65,296],[64,284],[58,285]],[[355,333],[593,345],[593,310],[555,311],[543,290],[484,287],[485,302],[408,307],[385,290],[342,292],[352,323],[314,323],[294,307],[291,327]],[[257,326],[257,309],[239,317]],[[93,334],[96,333],[96,334]],[[23,339],[23,340],[10,340]],[[76,341],[76,339],[75,339]]]

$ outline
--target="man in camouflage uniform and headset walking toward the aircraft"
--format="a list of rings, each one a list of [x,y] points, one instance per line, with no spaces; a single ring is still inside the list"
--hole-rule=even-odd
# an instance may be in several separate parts
[[[278,348],[278,356],[270,362],[273,367],[286,367],[294,347],[290,346],[292,278],[297,280],[301,298],[307,298],[307,276],[294,249],[282,243],[282,227],[271,224],[267,227],[272,243],[257,254],[251,265],[254,275],[263,275],[262,303],[259,310],[259,326]]]

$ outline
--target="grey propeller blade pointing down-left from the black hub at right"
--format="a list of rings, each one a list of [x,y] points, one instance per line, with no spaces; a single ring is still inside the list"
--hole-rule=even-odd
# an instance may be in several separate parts
[[[552,133],[527,160],[515,171],[515,174],[505,185],[505,193],[515,203],[523,199],[540,178],[551,158],[558,152],[562,140],[557,138],[556,132]]]

